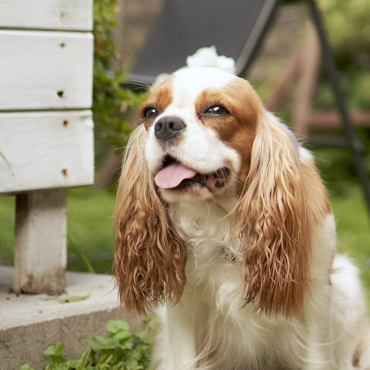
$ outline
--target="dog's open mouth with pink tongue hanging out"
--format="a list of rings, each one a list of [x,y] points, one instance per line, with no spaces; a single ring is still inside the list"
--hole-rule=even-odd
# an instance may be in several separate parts
[[[221,167],[214,172],[200,173],[184,166],[171,156],[166,156],[162,168],[154,177],[162,189],[183,189],[189,186],[207,187],[209,190],[222,188],[229,179],[230,170]]]

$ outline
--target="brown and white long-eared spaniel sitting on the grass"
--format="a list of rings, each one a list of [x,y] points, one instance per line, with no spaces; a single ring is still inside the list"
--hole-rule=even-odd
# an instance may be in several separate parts
[[[246,80],[187,68],[150,92],[115,227],[120,302],[160,323],[153,369],[370,369],[314,158]]]

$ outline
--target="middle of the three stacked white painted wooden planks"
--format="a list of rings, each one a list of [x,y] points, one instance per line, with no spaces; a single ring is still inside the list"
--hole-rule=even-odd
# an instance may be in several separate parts
[[[0,110],[90,108],[90,33],[0,30]]]

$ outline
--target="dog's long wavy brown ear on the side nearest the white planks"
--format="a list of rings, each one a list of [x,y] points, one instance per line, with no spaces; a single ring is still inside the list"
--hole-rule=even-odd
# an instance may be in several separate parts
[[[147,131],[131,134],[119,180],[114,225],[114,270],[120,302],[144,314],[151,303],[180,300],[185,284],[185,247],[169,225],[144,157]]]

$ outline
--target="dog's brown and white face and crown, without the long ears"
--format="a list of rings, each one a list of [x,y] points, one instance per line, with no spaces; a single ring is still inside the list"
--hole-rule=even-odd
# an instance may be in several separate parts
[[[172,75],[142,106],[145,157],[162,198],[236,195],[262,111],[246,80],[213,68]]]

